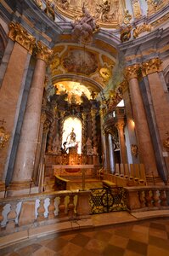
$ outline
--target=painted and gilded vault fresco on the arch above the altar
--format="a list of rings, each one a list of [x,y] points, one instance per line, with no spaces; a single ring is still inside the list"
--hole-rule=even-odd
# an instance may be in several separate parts
[[[113,76],[115,58],[104,51],[78,44],[57,44],[50,64],[52,80],[75,74],[97,82],[104,88]]]

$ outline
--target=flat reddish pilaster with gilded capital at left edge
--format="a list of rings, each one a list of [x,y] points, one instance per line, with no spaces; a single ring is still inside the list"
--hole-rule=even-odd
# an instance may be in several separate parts
[[[35,38],[26,32],[20,24],[13,22],[9,25],[8,38],[8,40],[14,42],[14,47],[10,52],[0,88],[0,119],[5,120],[3,126],[10,137],[5,147],[1,148],[0,190],[4,190],[4,180],[8,170],[12,143],[14,142],[14,131],[18,120],[25,77],[29,67],[32,49],[35,47]]]

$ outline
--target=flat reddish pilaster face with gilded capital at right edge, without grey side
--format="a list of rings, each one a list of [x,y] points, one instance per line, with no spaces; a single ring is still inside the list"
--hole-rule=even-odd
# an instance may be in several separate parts
[[[142,72],[144,78],[149,81],[149,91],[155,112],[155,120],[159,134],[158,145],[161,148],[161,160],[166,161],[166,166],[162,163],[164,170],[169,169],[169,153],[168,148],[165,147],[165,142],[169,141],[169,102],[168,95],[161,83],[161,60],[159,58],[146,61],[142,65]],[[165,170],[164,172],[167,173]],[[167,174],[166,174],[167,176]]]

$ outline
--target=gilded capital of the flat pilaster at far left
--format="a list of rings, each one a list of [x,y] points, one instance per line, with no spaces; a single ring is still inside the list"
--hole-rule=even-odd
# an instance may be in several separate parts
[[[31,36],[19,23],[11,22],[9,24],[8,38],[23,46],[30,54],[36,45],[36,38]]]

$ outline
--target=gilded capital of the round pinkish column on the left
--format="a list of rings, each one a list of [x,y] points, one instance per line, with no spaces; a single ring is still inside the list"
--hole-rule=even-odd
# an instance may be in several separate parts
[[[43,60],[48,64],[48,61],[54,54],[54,50],[48,49],[46,45],[42,44],[41,41],[38,41],[35,54],[37,55],[37,59]]]

